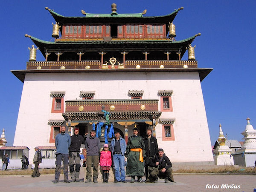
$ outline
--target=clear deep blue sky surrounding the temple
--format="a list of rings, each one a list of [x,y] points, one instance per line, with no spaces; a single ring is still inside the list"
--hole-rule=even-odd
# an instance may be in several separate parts
[[[183,6],[174,20],[175,38],[201,32],[192,43],[198,67],[214,69],[202,82],[212,145],[218,138],[219,123],[228,139],[241,140],[247,117],[256,129],[256,0],[13,0],[3,2],[0,12],[0,130],[5,128],[8,146],[13,144],[23,88],[10,70],[26,69],[28,47],[33,44],[24,34],[51,40],[55,21],[46,6],[64,16],[83,16],[81,9],[110,13],[111,3],[117,4],[118,13],[147,9],[145,16],[169,14]],[[44,60],[41,52],[37,60]],[[187,60],[187,53],[182,60]],[[32,132],[31,137],[34,134],[40,133]]]

